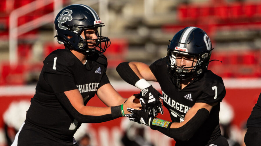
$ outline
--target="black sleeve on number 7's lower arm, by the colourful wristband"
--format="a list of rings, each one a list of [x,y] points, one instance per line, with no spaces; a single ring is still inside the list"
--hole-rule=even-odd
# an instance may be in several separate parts
[[[190,139],[198,128],[204,123],[204,121],[208,118],[209,111],[206,108],[201,108],[197,111],[197,113],[192,117],[185,125],[181,126],[180,128],[170,128],[170,124],[167,127],[157,126],[157,124],[151,123],[151,129],[158,130],[163,134],[174,138],[180,141],[186,141]],[[153,119],[154,121],[154,119]]]

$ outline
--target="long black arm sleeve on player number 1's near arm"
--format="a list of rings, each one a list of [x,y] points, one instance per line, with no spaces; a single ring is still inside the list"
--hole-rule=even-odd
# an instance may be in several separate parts
[[[90,115],[83,115],[79,113],[73,105],[70,103],[69,99],[65,95],[64,92],[56,93],[55,96],[60,101],[62,106],[79,122],[79,123],[101,123],[116,119],[121,117],[121,108],[120,106],[113,106],[111,107],[111,112],[113,114],[106,114],[101,116],[90,116]]]

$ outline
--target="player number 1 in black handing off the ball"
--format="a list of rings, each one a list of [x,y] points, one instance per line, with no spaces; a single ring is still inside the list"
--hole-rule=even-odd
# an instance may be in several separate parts
[[[134,96],[122,98],[106,75],[103,55],[110,40],[101,36],[104,26],[87,5],[69,5],[55,18],[57,49],[44,66],[31,99],[26,120],[12,145],[77,145],[73,135],[81,123],[109,121],[139,109]],[[108,107],[86,106],[97,94]]]

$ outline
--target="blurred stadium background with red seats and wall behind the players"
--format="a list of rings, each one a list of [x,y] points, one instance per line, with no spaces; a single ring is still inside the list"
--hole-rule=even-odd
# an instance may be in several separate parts
[[[139,90],[121,80],[115,70],[120,62],[151,64],[166,56],[168,40],[180,29],[187,26],[204,29],[215,48],[211,59],[222,61],[209,64],[226,87],[223,101],[227,104],[220,112],[220,121],[230,126],[230,138],[244,145],[245,122],[261,91],[260,0],[1,0],[1,146],[8,145],[6,135],[12,141],[24,120],[42,61],[53,50],[64,48],[54,39],[53,21],[61,8],[73,3],[94,8],[106,25],[102,35],[111,40],[105,52],[107,74],[115,89],[126,98]],[[160,91],[157,83],[152,84]],[[97,97],[87,105],[105,106]],[[164,111],[159,117],[170,120],[166,108]],[[92,145],[121,146],[121,137],[132,124],[122,117],[86,124],[79,131],[90,134]],[[146,140],[157,146],[175,143],[160,132],[146,127],[145,131]]]

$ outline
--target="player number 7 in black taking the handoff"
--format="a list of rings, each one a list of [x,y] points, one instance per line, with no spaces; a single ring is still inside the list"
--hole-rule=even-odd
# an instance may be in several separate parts
[[[144,109],[128,108],[131,114],[126,116],[174,138],[176,146],[228,146],[219,126],[225,87],[221,77],[207,70],[212,50],[205,31],[186,27],[170,41],[168,55],[150,66],[141,62],[120,63],[117,72],[124,81],[141,89]],[[163,95],[147,81],[157,81]],[[160,98],[171,121],[152,115],[161,111]]]

